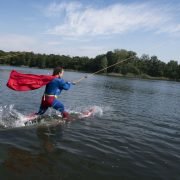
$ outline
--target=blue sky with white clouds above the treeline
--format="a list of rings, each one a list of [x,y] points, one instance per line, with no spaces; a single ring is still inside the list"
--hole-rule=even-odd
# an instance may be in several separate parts
[[[126,49],[180,63],[179,0],[0,0],[0,50],[88,56]]]

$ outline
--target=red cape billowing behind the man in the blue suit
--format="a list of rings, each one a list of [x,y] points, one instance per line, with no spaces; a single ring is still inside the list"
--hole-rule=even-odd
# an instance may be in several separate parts
[[[11,71],[7,86],[15,91],[30,91],[48,84],[55,76],[22,74]]]

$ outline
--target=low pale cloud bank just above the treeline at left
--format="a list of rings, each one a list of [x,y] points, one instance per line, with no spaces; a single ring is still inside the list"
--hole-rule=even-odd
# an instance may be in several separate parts
[[[93,57],[99,52],[105,52],[104,48],[100,46],[69,46],[63,41],[35,39],[18,34],[0,35],[0,49],[4,51],[33,51],[34,53],[89,57]]]

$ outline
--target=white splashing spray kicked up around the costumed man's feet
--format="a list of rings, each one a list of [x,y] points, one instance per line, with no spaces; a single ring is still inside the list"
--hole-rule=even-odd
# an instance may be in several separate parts
[[[91,111],[92,110],[92,111]],[[72,120],[85,119],[87,117],[95,117],[103,115],[103,108],[100,106],[89,106],[86,108],[81,108],[80,110],[68,110],[70,115],[73,117]],[[87,113],[86,113],[87,112]],[[88,113],[91,113],[90,115]],[[46,113],[47,114],[47,113]],[[50,109],[47,115],[42,115],[38,117],[38,122],[53,122],[53,120],[62,120],[61,114],[53,109]],[[14,105],[0,106],[0,129],[4,128],[15,128],[23,127],[27,122],[27,115],[23,115],[18,112]],[[27,125],[32,125],[33,123],[28,123]]]

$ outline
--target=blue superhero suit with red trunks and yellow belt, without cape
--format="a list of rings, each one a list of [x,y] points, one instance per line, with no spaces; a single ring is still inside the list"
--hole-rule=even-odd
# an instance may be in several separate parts
[[[68,113],[64,110],[64,105],[57,99],[62,90],[69,90],[71,87],[70,82],[65,82],[62,78],[55,78],[46,85],[44,95],[41,100],[41,105],[37,115],[44,114],[49,107],[60,111],[64,118]]]

